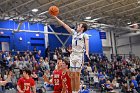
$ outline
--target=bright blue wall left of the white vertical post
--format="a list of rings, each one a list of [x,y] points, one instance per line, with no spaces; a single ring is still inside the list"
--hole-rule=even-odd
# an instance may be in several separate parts
[[[14,29],[17,29],[18,22],[16,21],[0,21],[0,32],[4,32],[4,34],[0,35],[0,42],[9,42],[10,50],[15,51],[33,51],[33,48],[36,47],[37,50],[41,50],[42,54],[44,54],[45,45],[44,45],[44,34],[37,33],[29,33],[29,32],[17,32],[12,33]],[[28,31],[44,31],[44,25],[40,23],[29,23],[24,22],[21,25],[20,30],[28,30]],[[22,38],[22,40],[19,40]]]

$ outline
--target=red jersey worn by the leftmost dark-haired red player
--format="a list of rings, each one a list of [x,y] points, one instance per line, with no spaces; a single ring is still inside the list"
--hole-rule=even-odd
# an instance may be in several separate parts
[[[32,93],[30,89],[35,85],[35,81],[32,78],[25,79],[22,77],[18,80],[17,85],[21,88],[22,91],[24,91],[24,93]]]

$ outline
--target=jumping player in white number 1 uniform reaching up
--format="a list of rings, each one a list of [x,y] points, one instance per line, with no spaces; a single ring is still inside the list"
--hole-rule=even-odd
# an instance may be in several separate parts
[[[84,52],[89,58],[89,37],[84,32],[87,30],[86,23],[80,23],[77,26],[76,31],[71,29],[58,17],[54,18],[69,32],[72,34],[72,53],[70,55],[70,69],[71,69],[71,81],[72,90],[79,91],[80,89],[80,72],[84,63]],[[85,51],[84,51],[85,50]]]

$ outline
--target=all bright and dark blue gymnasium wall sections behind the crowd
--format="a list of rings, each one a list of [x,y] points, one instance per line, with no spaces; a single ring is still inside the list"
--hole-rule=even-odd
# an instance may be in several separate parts
[[[0,21],[0,32],[4,32],[4,34],[0,35],[0,42],[9,42],[10,50],[14,51],[26,51],[30,50],[32,51],[34,47],[37,48],[37,50],[41,50],[42,54],[44,54],[45,51],[45,39],[44,34],[41,33],[30,33],[30,32],[17,32],[13,33],[12,31],[17,29],[18,22],[16,21]],[[63,27],[55,27],[54,25],[51,25],[53,30],[55,32],[59,33],[68,33]],[[29,23],[24,22],[21,25],[20,30],[22,31],[44,31],[44,25],[40,23]],[[49,32],[52,32],[48,28]],[[37,36],[38,34],[39,36]],[[103,53],[102,51],[102,41],[99,36],[99,31],[92,29],[87,31],[87,34],[90,34],[90,53]],[[62,40],[62,42],[65,42],[69,36],[64,35],[58,35],[58,37]],[[22,40],[19,40],[22,38]],[[56,47],[62,47],[62,44],[58,41],[56,36],[54,34],[48,35],[48,43],[50,45],[50,48],[52,51]],[[66,46],[71,44],[72,37],[70,36],[67,40]]]

